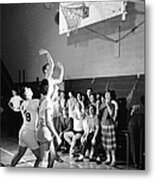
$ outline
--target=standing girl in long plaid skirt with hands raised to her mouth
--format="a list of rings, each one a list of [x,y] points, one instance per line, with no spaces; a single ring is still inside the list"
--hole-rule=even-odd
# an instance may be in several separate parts
[[[116,163],[115,150],[116,150],[116,136],[114,124],[115,106],[111,103],[111,93],[105,93],[105,106],[101,109],[101,140],[102,145],[106,151],[106,164],[114,166]]]

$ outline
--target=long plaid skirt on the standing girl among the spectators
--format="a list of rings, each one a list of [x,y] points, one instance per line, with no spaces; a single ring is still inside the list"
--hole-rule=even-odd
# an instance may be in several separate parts
[[[116,149],[115,126],[113,124],[102,125],[101,140],[102,140],[103,148],[105,150],[115,150]]]

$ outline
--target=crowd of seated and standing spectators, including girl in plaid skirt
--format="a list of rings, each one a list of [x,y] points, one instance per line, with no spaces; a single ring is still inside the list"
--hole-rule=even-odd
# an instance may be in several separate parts
[[[116,117],[118,104],[110,90],[105,94],[93,93],[87,89],[86,95],[59,91],[54,101],[53,121],[55,128],[63,139],[62,148],[69,147],[70,158],[77,154],[76,162],[89,158],[90,161],[102,163],[98,145],[102,144],[106,152],[104,163],[116,164]]]

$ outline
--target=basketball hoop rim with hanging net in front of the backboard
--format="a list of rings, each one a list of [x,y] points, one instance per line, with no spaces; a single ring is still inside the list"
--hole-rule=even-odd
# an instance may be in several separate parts
[[[71,31],[77,32],[82,19],[88,17],[88,7],[84,2],[68,2],[61,3],[60,8],[67,24],[67,37],[69,37]]]

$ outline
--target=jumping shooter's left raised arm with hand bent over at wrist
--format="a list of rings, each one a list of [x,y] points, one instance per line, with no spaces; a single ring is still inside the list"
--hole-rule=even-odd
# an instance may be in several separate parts
[[[50,55],[50,53],[46,50],[46,49],[43,49],[41,48],[39,50],[39,55],[46,55],[47,57],[47,61],[49,63],[49,70],[48,70],[48,75],[47,75],[47,78],[51,77],[53,75],[53,71],[54,71],[54,60],[52,58],[52,56]]]

